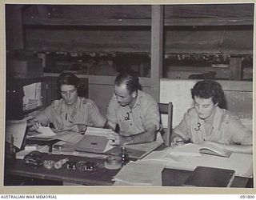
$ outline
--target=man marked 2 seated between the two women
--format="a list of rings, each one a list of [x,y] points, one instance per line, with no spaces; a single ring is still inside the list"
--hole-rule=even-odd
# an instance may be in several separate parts
[[[157,138],[158,103],[140,87],[138,77],[131,72],[118,74],[114,81],[114,95],[106,115],[107,125],[118,132],[109,137],[113,145],[153,142]]]

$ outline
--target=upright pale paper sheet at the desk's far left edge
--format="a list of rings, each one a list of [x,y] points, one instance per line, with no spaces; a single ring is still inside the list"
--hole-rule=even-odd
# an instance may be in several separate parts
[[[26,132],[26,118],[22,120],[6,121],[6,142],[11,143],[11,136],[14,137],[14,146],[19,149],[22,147],[22,141]]]

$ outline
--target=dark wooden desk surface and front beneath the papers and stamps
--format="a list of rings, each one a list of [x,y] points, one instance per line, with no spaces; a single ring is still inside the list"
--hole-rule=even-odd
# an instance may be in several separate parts
[[[44,159],[59,160],[66,158],[64,155],[43,154]],[[44,166],[33,168],[26,165],[23,160],[14,160],[6,163],[6,174],[25,177],[25,178],[40,178],[42,180],[70,182],[87,186],[113,186],[114,182],[111,181],[114,175],[118,174],[119,170],[107,170],[104,167],[104,159],[99,158],[82,158],[76,156],[68,156],[70,161],[86,161],[97,162],[98,169],[93,173],[90,171],[78,170],[47,170]],[[173,170],[165,169],[162,171],[162,186],[182,186],[186,178],[192,171],[188,170]],[[231,187],[246,187],[248,182],[252,184],[252,178],[235,177]],[[250,187],[253,187],[252,185]]]

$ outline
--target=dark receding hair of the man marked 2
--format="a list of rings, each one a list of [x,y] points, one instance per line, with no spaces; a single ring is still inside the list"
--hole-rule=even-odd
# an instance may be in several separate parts
[[[114,85],[120,86],[126,84],[126,89],[132,94],[134,91],[142,90],[139,84],[138,76],[133,71],[124,71],[115,78]]]

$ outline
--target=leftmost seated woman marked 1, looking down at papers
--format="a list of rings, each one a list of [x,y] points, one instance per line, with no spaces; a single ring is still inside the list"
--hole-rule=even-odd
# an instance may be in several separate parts
[[[62,73],[58,78],[62,98],[55,100],[40,114],[30,120],[30,130],[53,123],[56,130],[86,130],[86,126],[103,127],[106,118],[100,114],[95,102],[79,96],[79,79],[72,73]],[[32,122],[32,123],[31,123]]]

